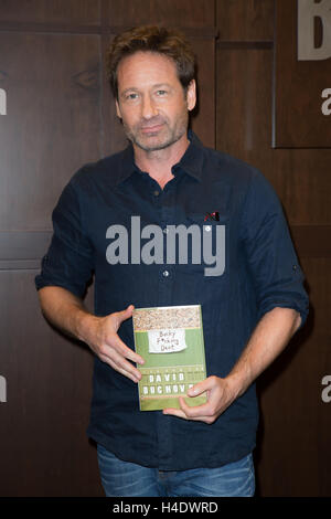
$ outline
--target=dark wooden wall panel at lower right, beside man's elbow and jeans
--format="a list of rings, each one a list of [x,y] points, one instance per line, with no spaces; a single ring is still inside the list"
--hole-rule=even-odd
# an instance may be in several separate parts
[[[321,380],[331,373],[331,260],[301,261],[310,286],[308,326],[259,382],[256,455],[263,496],[331,495],[331,404],[321,399]]]

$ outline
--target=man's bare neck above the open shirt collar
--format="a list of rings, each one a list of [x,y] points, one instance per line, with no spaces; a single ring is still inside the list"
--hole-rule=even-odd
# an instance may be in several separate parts
[[[181,160],[189,145],[186,134],[168,148],[154,151],[146,151],[134,144],[136,165],[163,189],[166,183],[173,178],[172,167]]]

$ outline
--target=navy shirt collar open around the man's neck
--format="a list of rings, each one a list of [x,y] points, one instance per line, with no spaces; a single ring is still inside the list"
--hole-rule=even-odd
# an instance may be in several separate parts
[[[181,160],[172,167],[173,174],[181,171],[194,177],[200,182],[202,181],[202,167],[203,167],[203,145],[196,135],[189,129],[188,137],[190,145],[188,146]],[[121,170],[117,183],[121,183],[134,172],[137,172],[138,167],[135,163],[135,153],[131,142],[121,152]]]

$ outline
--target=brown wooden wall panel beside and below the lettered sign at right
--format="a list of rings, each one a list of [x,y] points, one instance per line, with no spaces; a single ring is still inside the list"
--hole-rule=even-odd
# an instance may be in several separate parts
[[[273,149],[273,51],[217,46],[216,146],[270,180],[292,225],[330,224],[331,149]]]

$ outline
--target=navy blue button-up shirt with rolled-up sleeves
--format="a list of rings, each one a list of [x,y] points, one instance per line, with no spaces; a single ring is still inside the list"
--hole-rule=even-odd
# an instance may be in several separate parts
[[[207,375],[226,377],[264,314],[293,308],[303,324],[308,297],[269,182],[189,137],[163,190],[135,166],[131,146],[77,171],[53,212],[54,234],[35,284],[82,297],[94,275],[98,316],[129,304],[200,304]],[[195,232],[170,246],[173,229]],[[131,319],[118,333],[134,349]],[[163,470],[216,467],[255,446],[254,384],[212,425],[140,412],[137,384],[97,357],[93,384],[87,434],[121,459]]]

